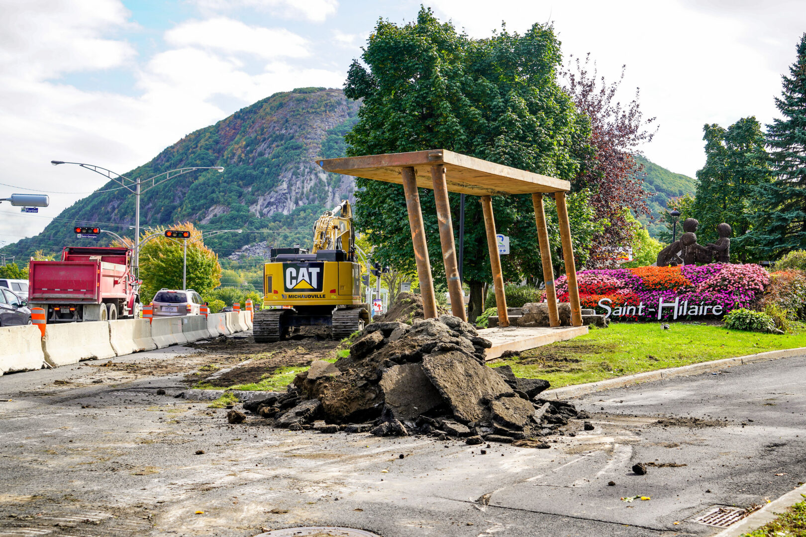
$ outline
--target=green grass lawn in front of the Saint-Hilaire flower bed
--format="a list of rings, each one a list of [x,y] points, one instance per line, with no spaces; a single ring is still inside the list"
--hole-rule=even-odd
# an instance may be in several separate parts
[[[552,388],[687,366],[768,350],[806,347],[806,329],[783,336],[674,323],[613,323],[585,336],[523,351],[491,364],[512,366],[518,377],[545,378]]]

